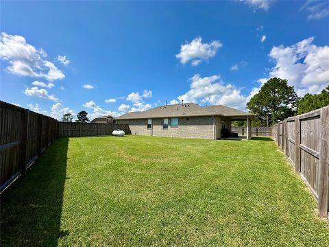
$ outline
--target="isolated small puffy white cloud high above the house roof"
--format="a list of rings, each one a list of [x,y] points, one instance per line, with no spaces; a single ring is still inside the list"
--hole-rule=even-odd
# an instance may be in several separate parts
[[[180,53],[176,55],[176,58],[182,64],[191,61],[193,66],[197,66],[203,60],[208,60],[215,56],[219,47],[222,46],[223,44],[219,40],[202,43],[202,38],[199,36],[193,39],[191,43],[186,41],[186,43],[182,44],[180,46]]]

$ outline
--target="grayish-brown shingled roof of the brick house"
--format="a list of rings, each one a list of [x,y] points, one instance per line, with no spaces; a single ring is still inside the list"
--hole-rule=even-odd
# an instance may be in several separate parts
[[[242,110],[236,110],[228,106],[199,106],[194,103],[173,104],[157,106],[141,112],[125,113],[115,119],[146,119],[160,117],[197,117],[220,115],[225,117],[247,117],[252,116]]]

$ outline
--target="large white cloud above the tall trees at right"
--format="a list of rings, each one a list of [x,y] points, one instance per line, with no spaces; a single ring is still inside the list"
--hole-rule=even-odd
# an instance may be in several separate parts
[[[269,58],[275,66],[269,71],[268,78],[287,79],[295,86],[298,95],[319,93],[329,84],[329,46],[313,44],[314,38],[304,39],[295,45],[273,47]],[[258,81],[265,81],[261,78]]]

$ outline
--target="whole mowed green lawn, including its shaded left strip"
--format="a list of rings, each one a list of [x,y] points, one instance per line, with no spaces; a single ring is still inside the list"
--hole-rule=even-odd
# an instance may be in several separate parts
[[[1,246],[329,246],[267,138],[59,139],[1,196]]]

